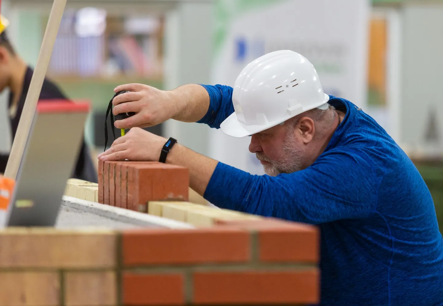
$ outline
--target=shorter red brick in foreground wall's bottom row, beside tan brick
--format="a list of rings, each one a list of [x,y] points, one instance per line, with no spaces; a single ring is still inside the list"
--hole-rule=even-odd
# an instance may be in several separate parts
[[[124,272],[123,305],[184,305],[181,274],[140,275]]]

